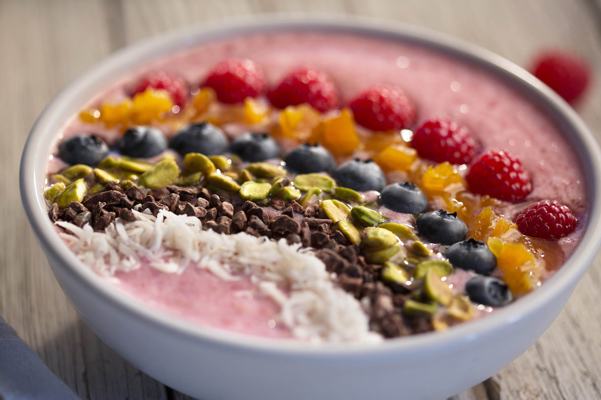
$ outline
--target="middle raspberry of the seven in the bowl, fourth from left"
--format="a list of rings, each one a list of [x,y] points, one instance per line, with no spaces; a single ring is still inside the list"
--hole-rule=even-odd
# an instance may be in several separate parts
[[[405,129],[415,121],[415,108],[397,86],[371,86],[349,104],[355,121],[374,131]]]

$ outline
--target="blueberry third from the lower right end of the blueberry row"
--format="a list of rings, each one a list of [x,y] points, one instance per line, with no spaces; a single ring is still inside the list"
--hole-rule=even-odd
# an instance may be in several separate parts
[[[442,210],[430,211],[417,217],[419,233],[432,243],[453,244],[462,241],[468,233],[465,222],[457,218],[457,213]]]

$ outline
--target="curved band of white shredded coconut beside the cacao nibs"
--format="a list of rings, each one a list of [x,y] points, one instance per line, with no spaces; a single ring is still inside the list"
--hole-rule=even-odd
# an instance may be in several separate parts
[[[249,276],[258,291],[281,307],[279,320],[295,338],[318,343],[381,340],[369,331],[358,300],[338,288],[323,262],[301,244],[203,231],[198,218],[165,210],[157,217],[150,210],[133,213],[137,220],[117,218],[105,232],[94,232],[90,225],[56,224],[72,232],[60,235],[103,276],[135,270],[143,260],[164,273],[181,273],[192,263],[225,280]]]

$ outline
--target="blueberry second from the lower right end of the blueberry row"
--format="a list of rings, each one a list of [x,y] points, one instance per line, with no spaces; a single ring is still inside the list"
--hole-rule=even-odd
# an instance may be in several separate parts
[[[490,274],[496,267],[496,257],[492,251],[486,244],[474,239],[453,244],[446,256],[454,267],[481,275]]]

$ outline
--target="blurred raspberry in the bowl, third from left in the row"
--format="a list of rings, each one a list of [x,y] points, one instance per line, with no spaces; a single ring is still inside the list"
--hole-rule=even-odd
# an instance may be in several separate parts
[[[276,88],[267,92],[273,106],[286,108],[308,103],[325,112],[338,105],[334,82],[326,73],[311,67],[299,67],[287,74]]]

